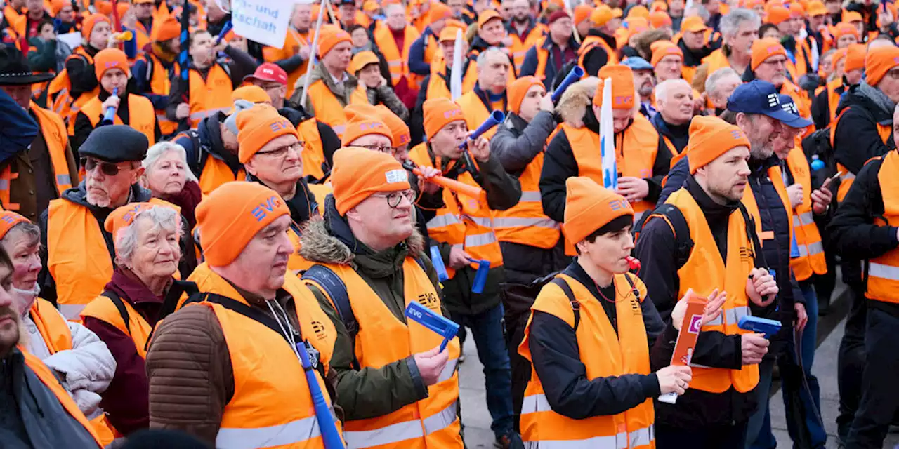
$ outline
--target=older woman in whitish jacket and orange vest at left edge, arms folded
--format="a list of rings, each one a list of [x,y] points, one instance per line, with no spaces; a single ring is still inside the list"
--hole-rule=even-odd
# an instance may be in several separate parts
[[[38,297],[40,228],[24,216],[4,211],[0,245],[13,261],[10,293],[28,333],[25,349],[49,366],[87,418],[102,415],[100,395],[112,380],[115,359],[91,330],[66,321],[53,304]],[[93,424],[102,427],[96,420]]]

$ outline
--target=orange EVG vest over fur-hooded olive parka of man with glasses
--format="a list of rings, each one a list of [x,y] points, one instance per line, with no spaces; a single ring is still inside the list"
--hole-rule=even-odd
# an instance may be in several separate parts
[[[396,318],[378,294],[349,265],[324,264],[334,270],[351,292],[352,313],[359,321],[355,355],[361,369],[403,360],[440,346],[442,338],[416,321]],[[411,256],[403,262],[405,305],[417,301],[441,314],[441,300],[431,279]],[[317,286],[314,281],[307,280]],[[319,290],[325,291],[318,286]],[[385,336],[389,335],[389,339]],[[437,383],[428,387],[427,398],[407,404],[387,415],[348,420],[343,427],[347,447],[379,449],[462,447],[458,419],[458,339],[447,346],[449,361]]]

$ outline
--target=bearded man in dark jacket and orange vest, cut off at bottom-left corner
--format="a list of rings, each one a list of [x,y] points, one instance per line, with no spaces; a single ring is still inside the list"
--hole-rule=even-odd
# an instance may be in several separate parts
[[[23,352],[26,330],[13,304],[13,263],[0,249],[0,441],[4,447],[101,447],[75,401],[38,357]]]

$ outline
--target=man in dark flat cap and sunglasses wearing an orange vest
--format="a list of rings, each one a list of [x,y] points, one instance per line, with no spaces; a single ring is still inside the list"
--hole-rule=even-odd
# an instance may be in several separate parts
[[[81,146],[85,180],[50,201],[40,216],[40,296],[69,320],[77,319],[112,276],[115,253],[113,236],[103,229],[106,217],[128,203],[163,203],[138,184],[147,144],[147,136],[124,125],[95,129]],[[180,264],[184,278],[196,266],[190,233],[182,234],[181,244],[182,253],[188,251]]]

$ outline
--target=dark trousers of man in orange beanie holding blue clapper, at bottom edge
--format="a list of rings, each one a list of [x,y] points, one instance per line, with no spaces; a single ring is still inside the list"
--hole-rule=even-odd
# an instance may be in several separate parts
[[[746,422],[735,425],[681,428],[655,425],[655,449],[723,449],[746,445]]]

